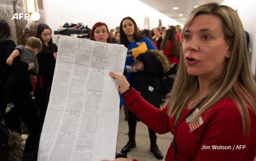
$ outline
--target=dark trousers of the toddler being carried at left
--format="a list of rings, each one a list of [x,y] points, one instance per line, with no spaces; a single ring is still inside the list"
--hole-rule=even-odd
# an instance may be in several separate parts
[[[33,92],[33,86],[30,81],[30,76],[28,74],[17,74],[12,73],[11,76],[7,79],[4,85],[4,99],[5,103],[12,103],[12,90],[16,84],[19,82],[25,82],[26,86],[28,87],[29,92]]]

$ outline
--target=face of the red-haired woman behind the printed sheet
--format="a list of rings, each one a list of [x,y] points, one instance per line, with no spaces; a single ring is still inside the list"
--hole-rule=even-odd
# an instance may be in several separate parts
[[[106,26],[99,26],[95,28],[93,33],[93,38],[97,42],[107,43],[109,37],[108,30]]]

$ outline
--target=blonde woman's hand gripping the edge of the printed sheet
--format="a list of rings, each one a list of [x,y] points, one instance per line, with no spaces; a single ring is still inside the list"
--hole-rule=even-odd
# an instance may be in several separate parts
[[[118,83],[118,85],[119,85],[118,92],[119,92],[120,94],[123,94],[125,91],[127,91],[127,90],[130,89],[130,88],[129,88],[129,87],[130,87],[130,84],[129,84],[129,82],[126,80],[126,78],[125,78],[124,75],[118,76],[118,75],[112,73],[111,71],[110,71],[109,75],[110,75],[110,77],[115,78],[115,79],[117,80],[117,83]]]

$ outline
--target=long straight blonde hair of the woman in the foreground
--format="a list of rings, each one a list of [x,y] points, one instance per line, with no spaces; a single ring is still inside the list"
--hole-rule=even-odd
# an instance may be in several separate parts
[[[207,101],[202,104],[193,121],[197,120],[203,112],[211,108],[215,103],[225,97],[229,97],[235,102],[241,114],[244,134],[249,135],[250,116],[248,108],[251,108],[256,115],[256,103],[254,100],[256,98],[256,84],[249,66],[242,22],[237,13],[230,7],[217,3],[208,3],[197,7],[190,13],[181,32],[181,37],[183,37],[183,32],[189,27],[191,21],[201,14],[210,14],[221,18],[225,40],[231,47],[231,57],[228,59],[223,73],[212,81],[212,84],[217,85],[210,92]],[[167,111],[170,117],[177,114],[181,105],[193,96],[199,87],[197,76],[190,76],[187,73],[183,53],[180,56],[179,70],[170,93],[170,105]]]

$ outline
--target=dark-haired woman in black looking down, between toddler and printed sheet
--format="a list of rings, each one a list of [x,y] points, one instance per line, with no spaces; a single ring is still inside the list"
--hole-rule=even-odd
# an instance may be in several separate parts
[[[39,71],[36,83],[35,97],[39,99],[39,111],[42,125],[47,110],[46,91],[52,86],[52,79],[57,59],[57,45],[52,43],[52,30],[44,23],[37,29],[36,37],[40,38],[43,44],[42,51],[36,57]]]

